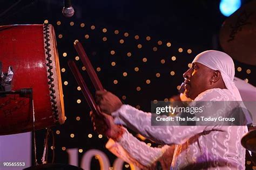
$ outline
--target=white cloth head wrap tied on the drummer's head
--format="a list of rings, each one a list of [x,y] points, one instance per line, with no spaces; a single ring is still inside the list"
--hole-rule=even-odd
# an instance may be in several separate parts
[[[233,82],[235,74],[234,62],[228,54],[215,50],[204,51],[198,54],[193,62],[199,62],[213,70],[219,70],[226,88],[231,91],[235,100],[242,101],[238,88]]]

